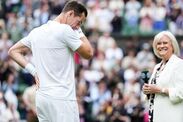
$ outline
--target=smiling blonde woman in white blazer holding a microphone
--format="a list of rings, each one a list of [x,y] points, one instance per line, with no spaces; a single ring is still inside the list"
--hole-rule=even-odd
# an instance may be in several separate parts
[[[153,50],[161,62],[142,88],[149,96],[149,122],[183,122],[183,60],[177,40],[162,31],[154,38]]]

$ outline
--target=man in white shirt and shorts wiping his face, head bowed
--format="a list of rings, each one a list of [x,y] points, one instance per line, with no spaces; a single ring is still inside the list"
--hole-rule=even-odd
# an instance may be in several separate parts
[[[86,8],[68,2],[54,20],[33,29],[9,50],[9,55],[36,79],[36,109],[39,122],[79,122],[76,101],[74,58],[76,51],[90,59],[93,49],[80,26]],[[23,56],[33,54],[34,65]]]

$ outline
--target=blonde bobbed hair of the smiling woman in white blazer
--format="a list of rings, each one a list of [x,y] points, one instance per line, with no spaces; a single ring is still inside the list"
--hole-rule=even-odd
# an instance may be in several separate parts
[[[169,39],[170,39],[170,42],[172,44],[172,47],[173,47],[173,54],[179,56],[180,55],[180,48],[179,48],[179,45],[178,45],[178,42],[175,38],[175,36],[169,32],[169,31],[162,31],[160,33],[158,33],[155,37],[154,37],[154,41],[153,41],[153,51],[154,51],[154,54],[158,57],[158,58],[161,58],[161,56],[158,54],[157,52],[157,48],[156,48],[156,45],[157,45],[157,42],[163,37],[163,36],[167,36]]]

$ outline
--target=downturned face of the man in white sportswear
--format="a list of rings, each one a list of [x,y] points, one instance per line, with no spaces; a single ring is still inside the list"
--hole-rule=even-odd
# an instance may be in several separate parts
[[[83,21],[86,19],[85,14],[82,13],[81,16],[75,16],[74,12],[70,14],[67,19],[67,24],[69,24],[72,29],[76,30],[79,29]]]

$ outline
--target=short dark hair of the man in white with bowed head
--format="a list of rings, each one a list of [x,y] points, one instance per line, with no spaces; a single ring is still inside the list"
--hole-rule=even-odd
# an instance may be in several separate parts
[[[88,12],[87,12],[87,9],[85,8],[85,6],[77,1],[68,1],[62,12],[68,12],[70,10],[73,10],[74,11],[74,14],[75,16],[81,16],[81,14],[84,12],[85,14],[85,17],[87,17],[88,15]]]

